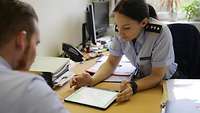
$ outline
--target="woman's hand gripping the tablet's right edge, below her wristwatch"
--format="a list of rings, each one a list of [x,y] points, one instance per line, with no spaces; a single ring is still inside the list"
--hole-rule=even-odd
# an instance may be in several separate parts
[[[120,93],[117,96],[116,101],[117,102],[124,102],[130,99],[130,97],[133,95],[133,91],[131,88],[131,85],[128,81],[123,81],[120,84]]]

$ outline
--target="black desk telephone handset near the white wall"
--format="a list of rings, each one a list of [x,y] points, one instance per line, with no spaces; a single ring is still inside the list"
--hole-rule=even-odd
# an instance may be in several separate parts
[[[83,54],[70,44],[63,43],[62,50],[75,62],[83,61]]]

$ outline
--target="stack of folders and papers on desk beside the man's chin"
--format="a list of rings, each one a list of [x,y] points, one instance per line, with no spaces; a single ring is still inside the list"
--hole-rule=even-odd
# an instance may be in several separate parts
[[[52,74],[52,81],[55,84],[63,81],[67,82],[72,76],[69,72],[70,60],[60,57],[42,57],[37,56],[32,64],[30,71],[32,72],[49,72]]]

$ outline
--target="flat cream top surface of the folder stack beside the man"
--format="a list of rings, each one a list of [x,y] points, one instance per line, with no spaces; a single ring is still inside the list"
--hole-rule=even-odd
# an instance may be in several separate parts
[[[62,68],[62,66],[68,64],[69,61],[68,58],[37,56],[30,71],[55,73],[57,70]]]

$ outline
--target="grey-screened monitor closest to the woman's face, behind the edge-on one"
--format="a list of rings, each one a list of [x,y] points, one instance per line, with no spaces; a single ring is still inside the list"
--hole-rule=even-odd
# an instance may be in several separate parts
[[[94,8],[94,20],[96,37],[102,37],[109,26],[109,0],[92,2]]]

